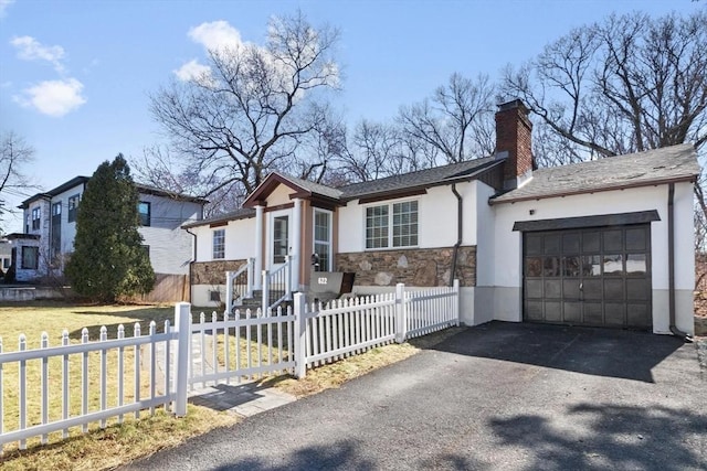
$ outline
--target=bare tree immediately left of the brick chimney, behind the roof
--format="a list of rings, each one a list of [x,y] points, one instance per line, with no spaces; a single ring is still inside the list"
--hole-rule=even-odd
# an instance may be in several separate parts
[[[398,124],[411,140],[434,148],[444,163],[462,162],[494,151],[494,109],[488,76],[472,81],[454,73],[432,97],[402,107]]]

